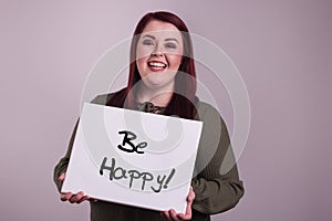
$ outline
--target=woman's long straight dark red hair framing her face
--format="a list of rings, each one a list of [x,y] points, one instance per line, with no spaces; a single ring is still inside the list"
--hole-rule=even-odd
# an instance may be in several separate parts
[[[136,48],[139,39],[139,34],[143,33],[144,28],[148,24],[148,22],[157,20],[167,23],[172,23],[175,25],[183,35],[184,40],[184,54],[183,61],[178,69],[178,73],[175,76],[175,88],[173,96],[165,109],[166,115],[177,115],[183,118],[194,119],[196,116],[196,108],[194,103],[197,81],[196,81],[196,72],[195,72],[195,63],[194,63],[194,53],[193,53],[193,44],[189,35],[189,30],[184,23],[181,19],[177,15],[165,12],[149,12],[145,14],[136,25],[134,31],[134,36],[132,39],[131,44],[131,65],[129,65],[129,77],[125,92],[125,96],[122,95],[114,101],[117,103],[115,106],[121,106],[122,103],[124,106],[128,108],[135,108],[135,99],[133,95],[134,85],[141,81],[141,75],[136,65]],[[180,73],[180,74],[179,74]],[[120,98],[120,99],[118,99]],[[123,101],[125,98],[125,101]],[[126,104],[124,104],[126,103]]]

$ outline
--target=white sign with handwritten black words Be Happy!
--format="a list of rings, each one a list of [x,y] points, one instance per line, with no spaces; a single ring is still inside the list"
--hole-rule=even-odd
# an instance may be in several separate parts
[[[201,126],[85,103],[61,191],[185,212]]]

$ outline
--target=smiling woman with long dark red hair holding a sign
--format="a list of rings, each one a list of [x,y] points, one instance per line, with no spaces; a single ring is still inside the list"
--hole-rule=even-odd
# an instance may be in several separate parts
[[[186,213],[173,209],[160,213],[95,201],[83,192],[61,193],[63,201],[72,203],[90,200],[91,220],[210,220],[210,214],[231,209],[243,196],[234,158],[227,159],[234,164],[231,169],[220,172],[230,147],[229,135],[219,113],[195,96],[197,82],[188,33],[185,23],[173,13],[144,15],[132,40],[127,87],[100,95],[92,102],[204,122]],[[66,155],[54,169],[59,190],[65,179],[75,131],[76,127]]]

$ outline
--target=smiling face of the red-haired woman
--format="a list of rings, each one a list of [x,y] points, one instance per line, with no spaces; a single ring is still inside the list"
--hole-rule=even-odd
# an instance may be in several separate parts
[[[174,90],[183,59],[180,31],[172,23],[153,20],[143,30],[136,48],[136,65],[143,84],[151,90]]]

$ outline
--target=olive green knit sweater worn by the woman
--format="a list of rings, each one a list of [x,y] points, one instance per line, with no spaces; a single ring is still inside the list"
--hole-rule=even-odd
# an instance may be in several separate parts
[[[100,95],[92,103],[105,105],[112,95]],[[191,206],[191,220],[203,221],[210,220],[210,214],[234,208],[243,196],[245,189],[242,181],[239,180],[225,122],[211,105],[196,99],[195,106],[198,113],[197,119],[204,122],[204,126],[194,169],[195,177],[191,180],[191,187],[196,196]],[[65,156],[54,168],[53,179],[59,191],[62,181],[59,181],[58,178],[68,168],[77,123]],[[226,161],[227,164],[225,164]],[[222,168],[225,165],[229,169]],[[229,165],[231,166],[229,167]],[[165,220],[160,212],[113,202],[91,201],[90,206],[92,221]]]

